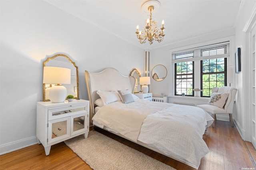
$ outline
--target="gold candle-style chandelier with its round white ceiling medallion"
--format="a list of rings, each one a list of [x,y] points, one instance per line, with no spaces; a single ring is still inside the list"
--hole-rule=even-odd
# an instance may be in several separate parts
[[[164,40],[164,20],[162,21],[162,28],[157,28],[156,21],[152,20],[153,11],[156,12],[160,7],[160,2],[157,0],[150,0],[142,5],[142,10],[144,12],[150,13],[146,20],[146,26],[143,28],[144,31],[139,31],[139,26],[137,26],[137,38],[140,43],[145,43],[148,40],[151,45],[154,41],[162,42]]]

